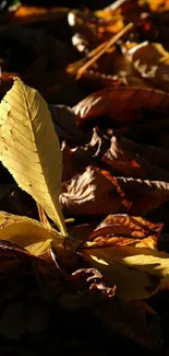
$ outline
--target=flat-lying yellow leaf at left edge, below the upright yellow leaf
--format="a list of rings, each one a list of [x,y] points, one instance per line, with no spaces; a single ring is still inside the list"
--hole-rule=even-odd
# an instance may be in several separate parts
[[[0,240],[11,241],[35,255],[40,255],[51,243],[59,245],[61,236],[55,229],[46,229],[37,220],[0,211]]]

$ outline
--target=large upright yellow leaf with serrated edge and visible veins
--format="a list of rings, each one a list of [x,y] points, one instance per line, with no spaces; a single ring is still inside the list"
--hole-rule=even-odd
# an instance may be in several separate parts
[[[59,204],[62,156],[46,101],[15,78],[0,104],[0,160],[67,236]]]

